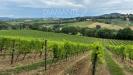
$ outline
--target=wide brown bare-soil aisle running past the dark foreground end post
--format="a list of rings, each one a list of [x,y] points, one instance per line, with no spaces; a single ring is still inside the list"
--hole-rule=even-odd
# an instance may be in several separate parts
[[[18,75],[91,75],[91,59],[88,54],[53,64],[45,71],[44,67]],[[97,65],[96,75],[110,75],[106,64]]]

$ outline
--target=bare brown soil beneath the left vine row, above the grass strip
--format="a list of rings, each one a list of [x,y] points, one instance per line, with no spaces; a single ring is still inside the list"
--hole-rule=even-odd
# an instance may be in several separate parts
[[[14,69],[18,66],[25,66],[25,65],[29,65],[29,64],[33,64],[33,63],[37,63],[40,62],[41,60],[44,59],[44,54],[42,55],[42,57],[39,57],[39,54],[28,54],[25,59],[23,60],[24,55],[21,54],[18,58],[18,60],[16,61],[16,55],[14,58],[14,63],[11,65],[11,56],[0,56],[0,71],[5,71],[7,69]],[[50,58],[51,56],[48,56],[48,58]]]

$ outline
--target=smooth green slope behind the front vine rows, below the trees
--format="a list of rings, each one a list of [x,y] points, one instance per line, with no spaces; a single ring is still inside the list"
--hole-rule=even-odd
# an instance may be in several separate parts
[[[35,30],[1,30],[0,37],[21,38],[25,40],[47,39],[50,41],[57,41],[57,42],[68,40],[76,43],[92,43],[98,40],[97,38],[92,38],[92,37],[67,35],[63,33],[42,32]]]

